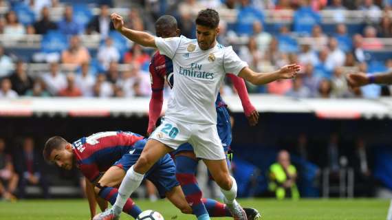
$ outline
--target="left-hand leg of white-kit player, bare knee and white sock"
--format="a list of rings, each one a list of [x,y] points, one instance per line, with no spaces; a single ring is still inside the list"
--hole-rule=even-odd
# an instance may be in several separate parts
[[[144,174],[155,164],[158,159],[162,158],[166,153],[173,151],[173,148],[150,139],[144,146],[142,154],[135,165],[131,166],[125,175],[120,188],[118,189],[118,197],[112,209],[117,216],[122,212],[127,199],[132,192],[136,190],[142,183]]]

